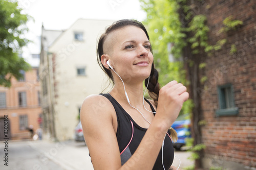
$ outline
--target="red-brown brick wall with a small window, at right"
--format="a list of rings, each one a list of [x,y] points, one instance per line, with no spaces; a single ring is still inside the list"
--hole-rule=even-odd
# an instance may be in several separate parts
[[[208,80],[202,94],[202,110],[206,125],[202,127],[205,157],[222,162],[230,161],[244,167],[256,167],[256,1],[206,1],[209,41],[215,44],[222,38],[227,43],[214,55],[206,58],[202,74]],[[232,15],[243,21],[236,31],[219,34],[222,21]],[[230,54],[231,44],[237,53]],[[217,116],[220,108],[218,85],[231,83],[238,115]],[[224,166],[224,163],[216,163]]]

